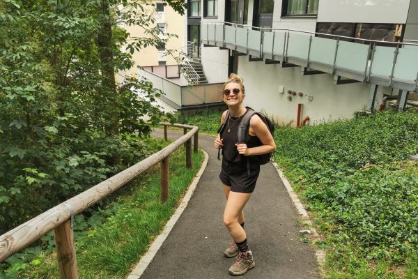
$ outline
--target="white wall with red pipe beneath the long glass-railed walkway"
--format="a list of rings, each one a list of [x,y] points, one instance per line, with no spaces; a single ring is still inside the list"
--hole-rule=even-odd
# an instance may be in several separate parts
[[[309,116],[310,124],[336,119],[351,119],[353,113],[366,107],[371,84],[354,83],[334,85],[332,75],[300,74],[300,67],[281,68],[280,64],[265,65],[263,61],[249,62],[240,56],[238,75],[244,79],[245,105],[277,118],[279,123],[292,122],[295,126],[297,104],[302,103],[302,117]],[[284,93],[279,93],[279,86]],[[287,91],[302,92],[303,97],[292,96]],[[309,101],[309,96],[312,100]],[[382,96],[378,96],[381,102]]]

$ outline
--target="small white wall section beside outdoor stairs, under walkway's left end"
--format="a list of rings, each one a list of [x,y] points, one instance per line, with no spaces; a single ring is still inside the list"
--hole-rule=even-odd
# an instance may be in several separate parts
[[[203,47],[201,61],[208,83],[226,82],[228,77],[228,52],[219,47]]]

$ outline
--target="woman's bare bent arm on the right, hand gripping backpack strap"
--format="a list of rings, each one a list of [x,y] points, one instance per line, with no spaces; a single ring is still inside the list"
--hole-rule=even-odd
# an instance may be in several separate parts
[[[264,121],[254,114],[249,120],[249,135],[256,136],[263,145],[247,148],[247,144],[236,144],[238,153],[245,156],[270,153],[276,149],[276,143]]]

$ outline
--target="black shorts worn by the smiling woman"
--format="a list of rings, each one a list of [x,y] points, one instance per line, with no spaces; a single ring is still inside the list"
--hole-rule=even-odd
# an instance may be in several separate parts
[[[222,169],[219,179],[226,186],[231,187],[232,192],[253,193],[256,188],[258,174],[260,174],[260,165],[251,162],[249,164],[249,175],[247,169],[247,161],[244,162],[228,162],[222,160]]]

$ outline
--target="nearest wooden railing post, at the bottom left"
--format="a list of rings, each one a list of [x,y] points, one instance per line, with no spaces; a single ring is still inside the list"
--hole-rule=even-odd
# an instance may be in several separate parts
[[[72,232],[70,221],[56,227],[54,236],[60,278],[78,279],[74,232]]]

